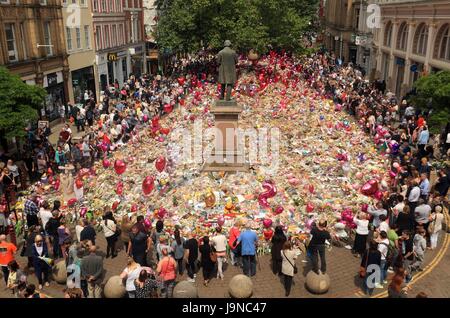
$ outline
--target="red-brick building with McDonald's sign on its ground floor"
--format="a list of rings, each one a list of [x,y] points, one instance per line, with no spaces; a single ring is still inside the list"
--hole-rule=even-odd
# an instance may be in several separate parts
[[[122,85],[145,67],[142,0],[92,0],[95,67],[100,90]]]

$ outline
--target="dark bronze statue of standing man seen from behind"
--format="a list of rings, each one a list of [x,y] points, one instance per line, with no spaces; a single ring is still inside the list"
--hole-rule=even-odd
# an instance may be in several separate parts
[[[220,99],[224,99],[225,89],[227,90],[226,100],[231,98],[231,89],[236,83],[236,63],[238,62],[238,55],[230,48],[231,42],[226,40],[224,48],[217,55],[217,63],[219,63],[219,79],[221,84]]]

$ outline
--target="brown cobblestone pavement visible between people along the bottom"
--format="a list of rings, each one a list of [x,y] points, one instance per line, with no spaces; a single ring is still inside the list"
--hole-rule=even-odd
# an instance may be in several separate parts
[[[448,237],[448,239],[447,239]],[[413,279],[412,289],[409,294],[415,296],[418,292],[424,291],[431,297],[450,297],[450,251],[448,249],[448,242],[450,235],[442,233],[440,235],[439,247],[435,251],[428,251],[425,257],[425,270],[422,273],[416,274],[420,277]],[[442,246],[443,243],[447,243]],[[106,240],[100,233],[97,236],[97,244],[100,249],[100,254],[104,256],[106,250]],[[442,249],[444,248],[444,249]],[[260,266],[257,267],[257,274],[252,278],[254,284],[254,297],[257,298],[284,298],[283,284],[280,278],[274,275],[270,267],[270,256],[259,257]],[[22,268],[26,265],[26,258],[18,256],[18,261]],[[327,251],[327,272],[330,275],[331,287],[324,295],[313,295],[309,293],[304,284],[305,276],[310,267],[304,262],[305,255],[298,257],[296,263],[299,268],[299,273],[294,278],[294,285],[292,287],[290,298],[361,298],[367,297],[361,290],[361,279],[357,272],[359,268],[360,259],[353,257],[349,250],[345,248],[333,247],[331,251]],[[124,251],[119,252],[119,256],[111,259],[104,259],[105,279],[113,275],[119,275],[126,264],[126,256]],[[228,284],[234,275],[241,274],[242,271],[238,267],[225,265],[224,280],[212,279],[208,287],[203,286],[203,279],[201,270],[197,273],[196,286],[198,287],[199,296],[201,298],[224,298],[228,297]],[[177,278],[178,281],[185,280],[186,273]],[[37,279],[31,273],[28,277],[29,282],[36,284]],[[4,281],[0,283],[0,297],[11,297],[9,291],[5,290]],[[62,297],[64,285],[59,285],[52,281],[49,287],[44,287],[43,292],[51,297]],[[378,297],[385,297],[382,289],[376,289],[375,294]],[[376,296],[375,296],[376,297]]]

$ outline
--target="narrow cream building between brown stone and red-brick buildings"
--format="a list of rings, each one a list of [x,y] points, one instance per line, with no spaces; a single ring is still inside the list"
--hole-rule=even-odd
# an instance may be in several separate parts
[[[96,74],[94,32],[91,2],[89,0],[62,0],[65,45],[69,54],[68,100],[83,103],[85,91],[98,98],[99,85]]]

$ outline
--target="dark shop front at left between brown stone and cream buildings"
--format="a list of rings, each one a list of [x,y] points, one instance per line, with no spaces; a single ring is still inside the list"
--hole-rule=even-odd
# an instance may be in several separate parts
[[[45,75],[43,84],[47,96],[45,97],[44,108],[41,110],[41,118],[53,121],[59,118],[60,107],[66,103],[62,72]]]

